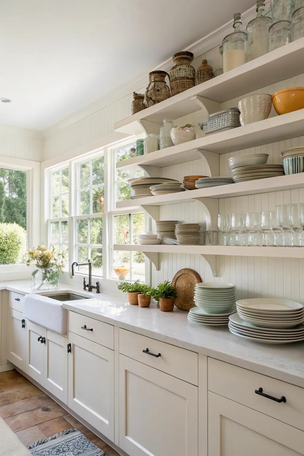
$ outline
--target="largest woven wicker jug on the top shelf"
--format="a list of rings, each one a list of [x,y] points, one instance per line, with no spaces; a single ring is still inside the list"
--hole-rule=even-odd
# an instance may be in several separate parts
[[[195,86],[195,69],[191,66],[194,55],[182,51],[174,54],[174,67],[170,70],[171,97]]]

